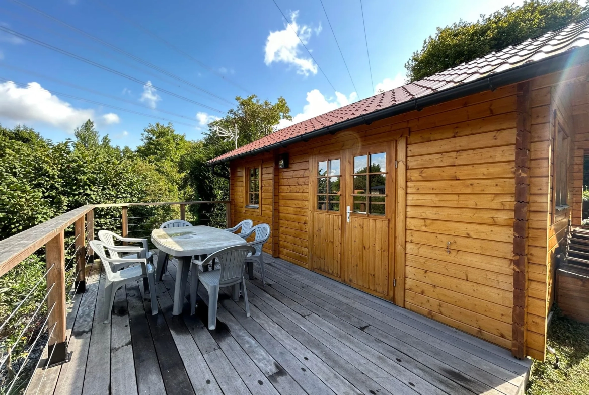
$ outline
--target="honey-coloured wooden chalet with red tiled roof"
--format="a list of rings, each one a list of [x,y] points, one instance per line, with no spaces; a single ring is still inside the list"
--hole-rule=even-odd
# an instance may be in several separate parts
[[[266,252],[544,360],[581,223],[589,21],[276,131],[229,162]],[[284,273],[288,275],[288,273]]]

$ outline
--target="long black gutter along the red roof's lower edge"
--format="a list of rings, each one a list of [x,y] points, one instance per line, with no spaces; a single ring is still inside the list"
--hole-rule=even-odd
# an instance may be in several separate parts
[[[562,71],[565,68],[570,68],[585,62],[589,62],[589,45],[570,49],[569,51],[562,52],[562,54],[554,55],[553,57],[545,58],[536,62],[525,63],[523,65],[519,65],[518,67],[507,69],[499,73],[489,74],[485,77],[475,79],[474,81],[444,89],[443,91],[432,92],[429,95],[395,104],[391,107],[383,108],[378,111],[370,112],[370,114],[360,115],[359,117],[351,118],[349,120],[339,122],[338,124],[333,124],[306,134],[291,137],[288,140],[275,142],[274,144],[267,145],[263,148],[257,148],[253,151],[243,152],[241,154],[233,155],[222,160],[209,162],[209,165],[216,165],[234,160],[236,158],[244,158],[262,154],[263,152],[276,150],[277,148],[286,148],[296,142],[307,142],[312,138],[322,137],[326,134],[335,134],[339,131],[355,128],[361,125],[369,125],[372,122],[380,121],[385,118],[391,118],[395,115],[403,114],[405,112],[414,110],[421,111],[421,109],[425,107],[431,107],[432,105],[441,104],[446,101],[474,95],[487,90],[494,91],[495,89],[504,87],[505,85],[511,85],[526,79]]]

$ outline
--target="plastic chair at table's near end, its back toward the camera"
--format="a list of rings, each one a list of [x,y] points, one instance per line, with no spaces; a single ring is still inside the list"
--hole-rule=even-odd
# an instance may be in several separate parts
[[[190,313],[196,313],[196,296],[198,284],[203,284],[209,293],[209,329],[213,330],[217,324],[217,302],[219,288],[233,287],[233,300],[239,298],[239,289],[246,304],[247,317],[250,316],[250,304],[247,301],[246,279],[243,269],[248,254],[256,252],[251,245],[234,245],[210,254],[204,261],[193,261],[190,277]],[[209,265],[214,259],[219,260],[221,268],[199,273],[198,266]]]

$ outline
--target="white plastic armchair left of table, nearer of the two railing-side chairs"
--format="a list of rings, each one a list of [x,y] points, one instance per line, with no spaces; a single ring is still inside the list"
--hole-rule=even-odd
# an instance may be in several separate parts
[[[153,264],[147,262],[147,258],[118,258],[113,259],[107,257],[108,251],[115,251],[120,247],[113,247],[103,243],[102,241],[92,240],[88,243],[90,248],[100,257],[102,261],[102,267],[104,267],[104,273],[106,274],[106,282],[104,286],[104,323],[110,322],[112,304],[114,303],[114,297],[117,293],[118,288],[123,287],[125,284],[131,283],[132,281],[139,280],[140,278],[147,278],[148,290],[151,300],[151,314],[157,314],[157,298],[155,297],[155,281],[154,281],[154,267]],[[120,271],[112,270],[113,264],[124,264],[128,266],[130,264],[140,263],[140,266],[127,267]],[[145,283],[144,283],[145,286]]]

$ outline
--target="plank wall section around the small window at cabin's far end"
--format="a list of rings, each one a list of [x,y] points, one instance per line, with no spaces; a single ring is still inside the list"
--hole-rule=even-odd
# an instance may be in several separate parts
[[[259,208],[246,207],[247,201],[247,174],[250,167],[260,167],[260,205]],[[272,154],[258,155],[247,160],[236,160],[230,166],[230,193],[231,193],[231,226],[237,225],[243,220],[252,220],[254,225],[268,224],[273,228],[274,214],[274,160]],[[253,240],[253,239],[252,239]],[[251,240],[249,240],[251,241]],[[273,243],[264,244],[264,252],[273,254]]]

